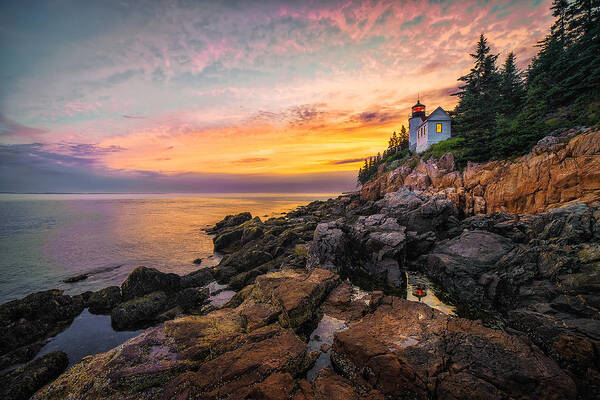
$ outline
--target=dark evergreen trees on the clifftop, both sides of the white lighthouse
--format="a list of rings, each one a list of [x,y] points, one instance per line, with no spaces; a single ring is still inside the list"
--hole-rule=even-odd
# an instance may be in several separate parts
[[[600,123],[600,0],[553,0],[551,10],[554,23],[526,71],[512,52],[498,66],[498,54],[479,37],[450,112],[459,139],[438,144],[453,151],[459,165],[519,156],[553,130]],[[376,176],[382,163],[407,154],[402,126],[383,155],[365,159],[359,183]]]

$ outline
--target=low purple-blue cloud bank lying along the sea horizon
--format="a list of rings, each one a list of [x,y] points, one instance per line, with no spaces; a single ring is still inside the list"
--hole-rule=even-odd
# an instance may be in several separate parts
[[[90,168],[91,161],[44,151],[39,143],[0,145],[0,187],[4,192],[322,192],[355,187],[354,172],[298,174],[163,174]]]

